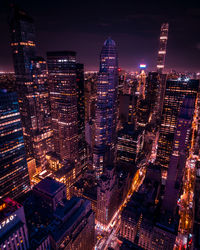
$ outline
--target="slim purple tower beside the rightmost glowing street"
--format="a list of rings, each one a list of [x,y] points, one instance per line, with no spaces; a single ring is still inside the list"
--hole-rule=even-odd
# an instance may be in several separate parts
[[[195,97],[185,97],[178,116],[163,199],[163,208],[172,213],[176,212],[177,200],[180,197],[184,167],[191,144],[194,109]]]

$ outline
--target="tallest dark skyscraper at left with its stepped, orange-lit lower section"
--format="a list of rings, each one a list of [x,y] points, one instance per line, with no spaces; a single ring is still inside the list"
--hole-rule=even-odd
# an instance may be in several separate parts
[[[36,57],[32,18],[15,6],[10,32],[26,154],[45,168],[52,136],[46,62]]]

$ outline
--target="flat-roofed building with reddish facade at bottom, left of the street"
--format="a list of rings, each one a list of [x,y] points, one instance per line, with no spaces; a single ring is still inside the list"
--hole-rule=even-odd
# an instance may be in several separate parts
[[[56,209],[54,217],[48,227],[52,249],[93,249],[95,224],[89,201],[73,197]]]

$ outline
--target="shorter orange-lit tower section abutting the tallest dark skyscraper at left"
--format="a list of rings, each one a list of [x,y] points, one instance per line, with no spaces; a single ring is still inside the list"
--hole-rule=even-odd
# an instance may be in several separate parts
[[[46,154],[52,150],[49,86],[46,61],[42,57],[31,59],[34,86],[34,120],[32,122],[33,152],[36,166],[47,166]]]

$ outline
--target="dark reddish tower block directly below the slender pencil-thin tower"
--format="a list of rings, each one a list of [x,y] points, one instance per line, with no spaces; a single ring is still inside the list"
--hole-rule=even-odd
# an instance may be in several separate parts
[[[166,75],[149,72],[147,77],[146,101],[150,109],[150,121],[160,119],[166,87]]]

